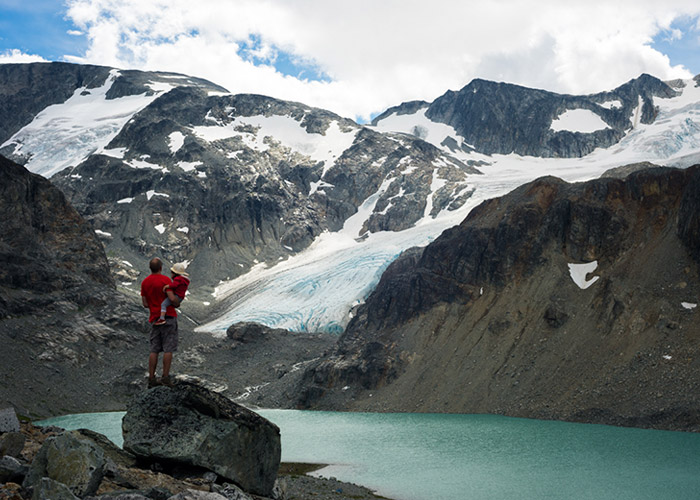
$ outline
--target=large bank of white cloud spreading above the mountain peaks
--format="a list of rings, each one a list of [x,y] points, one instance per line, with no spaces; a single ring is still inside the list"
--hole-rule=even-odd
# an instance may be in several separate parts
[[[232,92],[364,116],[432,100],[480,77],[557,92],[613,88],[646,72],[689,77],[651,47],[695,0],[69,0],[86,35],[76,62],[169,70]],[[671,32],[673,36],[677,33]],[[239,55],[251,36],[259,44]],[[285,76],[280,52],[331,81]],[[246,59],[254,57],[258,65]],[[266,61],[268,65],[261,65]]]

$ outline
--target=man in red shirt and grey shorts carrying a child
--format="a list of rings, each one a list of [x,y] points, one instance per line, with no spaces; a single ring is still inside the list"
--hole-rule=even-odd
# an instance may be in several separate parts
[[[160,304],[166,297],[163,292],[165,285],[170,285],[170,278],[162,274],[163,263],[157,257],[151,259],[148,266],[151,274],[141,282],[141,302],[143,307],[150,311],[148,322],[151,323],[151,353],[148,357],[148,387],[156,385],[172,385],[170,379],[170,365],[173,361],[173,353],[177,351],[177,312],[175,307],[180,306],[180,298],[174,293],[168,293],[170,302],[165,311],[165,324],[155,325],[155,321],[160,317]],[[174,306],[174,307],[173,307]],[[163,353],[163,377],[160,384],[156,380],[156,368],[158,366],[158,356]]]

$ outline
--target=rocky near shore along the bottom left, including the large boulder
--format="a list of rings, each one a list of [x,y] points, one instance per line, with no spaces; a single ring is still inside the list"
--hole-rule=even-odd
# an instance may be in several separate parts
[[[121,449],[89,430],[20,424],[14,410],[3,410],[0,499],[378,498],[359,486],[305,476],[310,466],[280,468],[274,424],[193,384],[139,394],[123,433]]]

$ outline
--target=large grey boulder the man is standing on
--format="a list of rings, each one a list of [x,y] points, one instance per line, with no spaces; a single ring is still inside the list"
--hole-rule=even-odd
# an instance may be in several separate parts
[[[245,491],[269,496],[280,463],[279,428],[203,387],[142,392],[122,421],[124,449],[147,460],[204,467]]]

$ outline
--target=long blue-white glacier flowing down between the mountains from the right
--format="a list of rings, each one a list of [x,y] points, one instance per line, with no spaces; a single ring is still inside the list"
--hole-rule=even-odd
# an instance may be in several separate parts
[[[215,336],[239,321],[255,321],[292,331],[342,332],[354,306],[362,303],[376,286],[382,272],[404,250],[423,246],[445,229],[459,224],[482,201],[501,196],[544,175],[568,182],[599,177],[621,165],[656,162],[687,166],[700,157],[700,88],[685,82],[682,93],[657,99],[659,114],[654,123],[637,123],[615,146],[597,149],[582,158],[536,158],[518,155],[486,156],[459,151],[459,159],[482,161],[483,175],[468,178],[471,198],[459,210],[443,210],[401,232],[379,232],[357,239],[357,230],[370,216],[383,185],[370,196],[341,231],[323,233],[305,251],[267,267],[259,264],[235,280],[221,283],[214,292],[217,310],[214,320],[197,328]],[[378,131],[415,133],[428,142],[455,154],[442,145],[446,137],[464,144],[454,129],[431,122],[425,110],[414,115],[390,116],[374,127]],[[439,185],[439,179],[434,179]],[[432,190],[429,203],[432,201]]]

